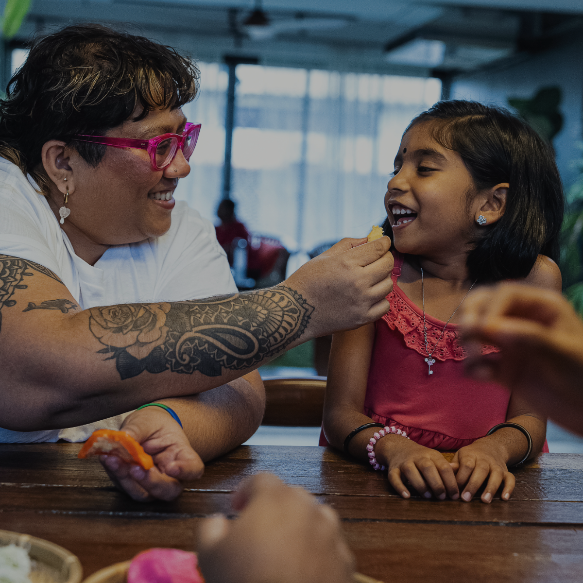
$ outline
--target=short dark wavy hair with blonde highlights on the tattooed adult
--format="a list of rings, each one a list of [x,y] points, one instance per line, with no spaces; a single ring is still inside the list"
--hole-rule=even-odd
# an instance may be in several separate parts
[[[145,37],[99,24],[68,26],[36,40],[0,100],[0,156],[36,180],[44,194],[49,178],[40,166],[51,139],[74,147],[97,166],[106,146],[73,141],[75,134],[104,135],[134,113],[181,107],[194,99],[199,72],[190,59]]]

